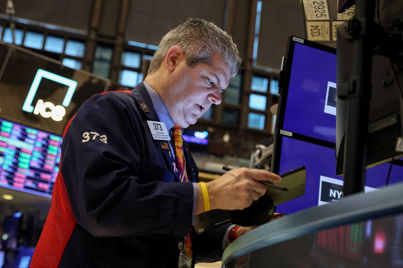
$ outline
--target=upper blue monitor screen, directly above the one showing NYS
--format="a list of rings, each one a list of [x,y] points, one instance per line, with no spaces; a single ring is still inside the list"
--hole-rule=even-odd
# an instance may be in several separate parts
[[[289,71],[289,76],[285,77],[288,88],[286,85],[282,90],[282,98],[286,97],[286,100],[282,100],[281,105],[284,101],[286,104],[280,128],[334,143],[336,141],[335,50],[303,41],[304,43],[291,41],[289,44],[286,64],[291,64],[291,67],[286,67]],[[284,111],[284,108],[281,110]]]

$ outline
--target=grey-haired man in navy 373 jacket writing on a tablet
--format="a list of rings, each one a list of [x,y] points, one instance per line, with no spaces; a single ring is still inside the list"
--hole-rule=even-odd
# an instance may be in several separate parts
[[[248,207],[266,191],[256,181],[281,178],[241,168],[198,183],[180,137],[180,127],[221,103],[240,61],[227,33],[189,19],[164,36],[145,82],[84,103],[64,131],[31,266],[190,267],[205,260],[198,256],[219,259],[223,246],[247,232],[225,226],[196,235],[191,226],[209,209]]]

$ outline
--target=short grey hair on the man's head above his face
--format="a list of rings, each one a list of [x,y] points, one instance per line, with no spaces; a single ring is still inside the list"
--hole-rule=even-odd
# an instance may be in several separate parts
[[[200,62],[211,64],[213,52],[217,51],[228,64],[232,76],[239,72],[241,58],[231,36],[214,23],[187,19],[162,38],[150,63],[149,74],[158,70],[168,50],[173,46],[182,48],[186,64],[190,67]]]

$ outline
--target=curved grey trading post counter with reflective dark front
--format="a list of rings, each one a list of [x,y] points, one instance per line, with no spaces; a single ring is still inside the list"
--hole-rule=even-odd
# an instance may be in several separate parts
[[[222,266],[403,267],[403,183],[264,224],[231,243]]]

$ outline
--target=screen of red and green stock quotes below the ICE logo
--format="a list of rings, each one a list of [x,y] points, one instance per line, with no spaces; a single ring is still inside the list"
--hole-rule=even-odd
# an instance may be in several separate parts
[[[51,197],[61,137],[0,118],[0,187]]]

